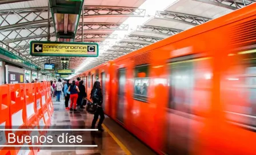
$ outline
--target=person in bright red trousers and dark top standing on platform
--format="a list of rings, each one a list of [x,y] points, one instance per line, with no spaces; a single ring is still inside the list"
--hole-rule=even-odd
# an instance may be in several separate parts
[[[79,88],[77,85],[75,85],[75,81],[72,81],[72,84],[69,86],[69,92],[70,92],[70,111],[77,111],[77,98],[78,98],[78,93],[79,93]],[[73,109],[73,104],[74,104],[74,109]]]

